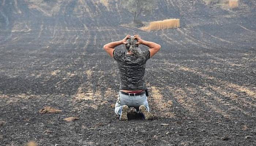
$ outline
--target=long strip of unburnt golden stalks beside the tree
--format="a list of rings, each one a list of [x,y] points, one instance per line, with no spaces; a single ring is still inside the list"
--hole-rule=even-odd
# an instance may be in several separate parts
[[[148,26],[141,27],[141,30],[151,31],[151,30],[164,30],[170,28],[180,27],[180,19],[165,19],[162,21],[150,22]]]

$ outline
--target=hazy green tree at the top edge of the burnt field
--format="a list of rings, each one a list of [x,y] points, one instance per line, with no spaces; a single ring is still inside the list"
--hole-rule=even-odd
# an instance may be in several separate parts
[[[138,22],[138,16],[151,12],[155,6],[155,0],[123,0],[123,6],[133,13],[133,22]]]

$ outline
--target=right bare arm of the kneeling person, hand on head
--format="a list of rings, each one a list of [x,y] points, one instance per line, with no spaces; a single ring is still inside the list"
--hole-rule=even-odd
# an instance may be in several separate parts
[[[148,46],[150,48],[149,49],[150,58],[153,57],[161,49],[161,46],[159,44],[154,43],[154,42],[144,41],[143,39],[141,39],[139,37],[139,35],[135,35],[134,38],[136,38],[138,40],[137,44],[142,44],[142,45]]]

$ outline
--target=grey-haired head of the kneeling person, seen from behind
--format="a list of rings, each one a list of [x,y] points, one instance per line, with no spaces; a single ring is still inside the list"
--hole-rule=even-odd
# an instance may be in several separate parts
[[[134,37],[131,36],[126,42],[127,44],[125,44],[125,48],[128,52],[131,52],[136,57],[142,57],[142,51],[138,48],[139,45],[136,44],[138,42],[137,39],[134,39]]]

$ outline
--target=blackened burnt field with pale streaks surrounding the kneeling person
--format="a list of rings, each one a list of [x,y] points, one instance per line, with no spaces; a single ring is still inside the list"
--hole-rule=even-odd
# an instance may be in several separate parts
[[[0,146],[256,145],[255,8],[162,0],[139,19],[181,27],[145,32],[117,0],[1,0]],[[145,72],[152,121],[110,106],[119,73],[103,45],[127,34],[162,46]]]

